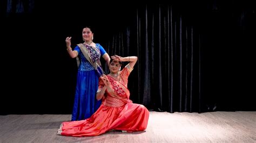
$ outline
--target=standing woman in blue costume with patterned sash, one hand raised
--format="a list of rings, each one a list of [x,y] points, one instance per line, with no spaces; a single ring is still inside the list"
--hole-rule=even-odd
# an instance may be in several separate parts
[[[102,101],[97,101],[96,92],[100,75],[103,74],[100,56],[110,62],[109,54],[104,48],[94,43],[90,27],[83,28],[83,44],[71,48],[71,37],[66,38],[66,47],[71,58],[79,57],[77,87],[71,120],[84,120],[97,111]]]

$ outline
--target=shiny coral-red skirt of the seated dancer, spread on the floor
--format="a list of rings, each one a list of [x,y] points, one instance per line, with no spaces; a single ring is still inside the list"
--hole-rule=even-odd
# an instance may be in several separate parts
[[[144,131],[148,120],[149,110],[144,105],[126,103],[123,106],[114,107],[102,104],[88,119],[63,122],[57,134],[90,137],[110,130]]]

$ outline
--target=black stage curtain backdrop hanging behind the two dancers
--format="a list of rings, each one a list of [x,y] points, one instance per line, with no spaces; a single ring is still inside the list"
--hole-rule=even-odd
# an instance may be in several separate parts
[[[0,6],[1,115],[71,113],[77,67],[65,38],[72,36],[72,47],[83,42],[85,25],[109,55],[138,56],[128,84],[134,103],[171,113],[256,110],[252,3],[6,0]]]

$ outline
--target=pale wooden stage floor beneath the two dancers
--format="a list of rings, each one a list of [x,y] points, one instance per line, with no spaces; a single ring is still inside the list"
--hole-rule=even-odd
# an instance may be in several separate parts
[[[256,142],[256,112],[150,112],[143,132],[96,137],[57,135],[71,115],[0,116],[0,142]]]

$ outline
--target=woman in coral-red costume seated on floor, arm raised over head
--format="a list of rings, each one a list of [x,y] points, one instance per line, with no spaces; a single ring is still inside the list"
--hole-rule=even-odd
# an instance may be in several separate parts
[[[137,56],[111,56],[110,74],[101,76],[99,80],[97,99],[102,99],[102,105],[88,119],[63,122],[57,134],[90,137],[111,130],[144,131],[149,110],[144,105],[132,103],[127,89],[128,76],[137,59]],[[129,63],[120,70],[123,61]]]

